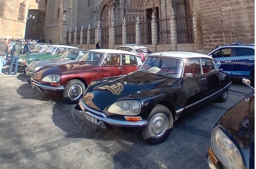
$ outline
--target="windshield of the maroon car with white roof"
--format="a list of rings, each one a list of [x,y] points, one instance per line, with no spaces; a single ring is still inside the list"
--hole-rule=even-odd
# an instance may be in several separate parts
[[[94,64],[100,66],[102,60],[104,59],[105,54],[96,53],[96,52],[86,52],[84,57],[80,62],[87,62],[89,64]]]

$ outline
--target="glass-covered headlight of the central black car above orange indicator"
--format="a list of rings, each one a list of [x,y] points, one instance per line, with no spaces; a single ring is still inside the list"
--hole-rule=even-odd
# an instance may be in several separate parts
[[[140,102],[117,101],[110,105],[108,112],[120,115],[138,115],[140,113]]]

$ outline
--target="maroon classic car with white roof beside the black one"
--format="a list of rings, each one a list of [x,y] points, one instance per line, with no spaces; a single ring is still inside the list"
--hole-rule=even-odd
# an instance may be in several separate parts
[[[134,72],[142,65],[137,54],[122,50],[89,50],[80,62],[42,68],[31,78],[34,89],[60,94],[77,103],[92,80]]]

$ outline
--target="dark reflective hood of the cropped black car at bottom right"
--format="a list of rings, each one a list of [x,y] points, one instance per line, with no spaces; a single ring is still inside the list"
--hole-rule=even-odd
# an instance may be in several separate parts
[[[251,103],[253,106],[251,106]],[[253,112],[253,116],[250,115],[250,111]],[[252,138],[250,140],[250,133],[252,129],[254,133],[254,96],[250,98],[250,108],[249,102],[246,102],[245,99],[240,100],[223,115],[216,126],[220,126],[227,131],[232,138],[231,140],[235,142],[236,146],[240,149],[241,155],[244,157],[246,168],[248,168],[252,141]]]

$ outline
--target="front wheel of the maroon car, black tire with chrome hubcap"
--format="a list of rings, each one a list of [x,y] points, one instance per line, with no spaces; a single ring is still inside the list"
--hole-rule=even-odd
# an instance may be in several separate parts
[[[85,89],[84,83],[80,80],[70,80],[65,85],[62,96],[67,103],[75,104],[78,103],[79,99],[83,96]],[[72,94],[74,94],[74,97],[72,97]]]

